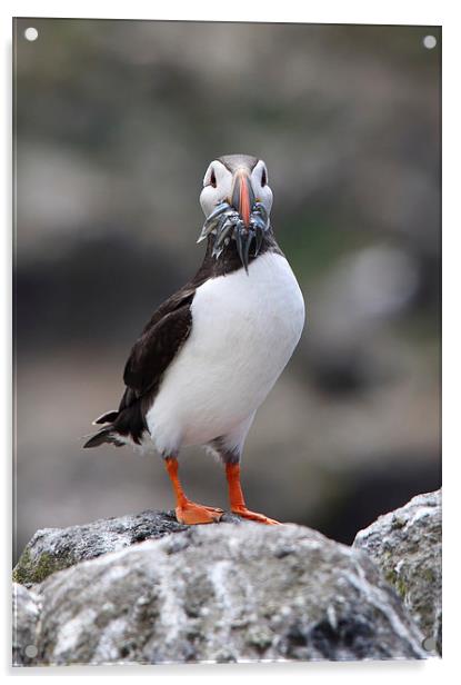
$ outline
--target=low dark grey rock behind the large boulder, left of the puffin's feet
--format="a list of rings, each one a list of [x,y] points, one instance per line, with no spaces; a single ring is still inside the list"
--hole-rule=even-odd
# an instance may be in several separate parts
[[[227,513],[222,520],[241,519]],[[174,512],[143,512],[96,520],[83,526],[43,528],[38,530],[26,546],[13,570],[13,579],[30,587],[52,573],[79,562],[186,529],[187,526],[177,522]]]

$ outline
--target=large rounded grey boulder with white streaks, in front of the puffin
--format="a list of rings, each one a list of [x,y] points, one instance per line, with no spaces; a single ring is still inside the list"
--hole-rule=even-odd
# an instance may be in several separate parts
[[[34,590],[38,664],[427,656],[369,557],[295,525],[194,526]]]

